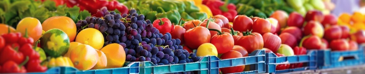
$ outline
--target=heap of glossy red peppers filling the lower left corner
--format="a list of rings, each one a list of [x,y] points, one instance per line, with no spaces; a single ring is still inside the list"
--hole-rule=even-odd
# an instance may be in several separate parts
[[[44,72],[39,54],[33,49],[34,40],[20,32],[0,36],[0,73]],[[25,66],[25,67],[24,67]]]

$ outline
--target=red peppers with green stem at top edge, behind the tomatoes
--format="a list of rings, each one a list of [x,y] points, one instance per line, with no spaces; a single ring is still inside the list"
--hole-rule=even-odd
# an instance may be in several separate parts
[[[226,16],[229,22],[233,22],[234,17],[237,16],[236,6],[232,3],[228,4],[228,0],[224,2],[221,0],[203,0],[203,4],[210,8],[213,15]]]

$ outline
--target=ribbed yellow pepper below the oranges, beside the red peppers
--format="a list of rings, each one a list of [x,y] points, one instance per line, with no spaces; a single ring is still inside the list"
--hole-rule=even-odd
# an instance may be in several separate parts
[[[69,66],[69,67],[74,67],[73,63],[71,61],[70,58],[68,57],[57,57],[57,58],[51,58],[48,61],[48,67],[58,67],[58,66]]]

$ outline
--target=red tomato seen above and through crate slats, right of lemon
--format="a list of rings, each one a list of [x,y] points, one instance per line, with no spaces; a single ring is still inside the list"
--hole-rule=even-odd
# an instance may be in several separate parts
[[[230,58],[239,58],[242,57],[242,54],[238,51],[228,51],[224,54],[222,54],[222,56],[220,56],[221,59],[230,59]],[[237,73],[237,72],[242,72],[245,69],[245,66],[235,66],[235,67],[225,67],[225,68],[220,68],[220,71],[222,71],[223,74],[228,74],[228,73]]]

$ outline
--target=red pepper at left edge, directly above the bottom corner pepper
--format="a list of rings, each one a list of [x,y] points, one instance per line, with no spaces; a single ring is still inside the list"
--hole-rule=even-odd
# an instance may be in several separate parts
[[[24,60],[23,53],[18,52],[18,48],[13,49],[11,46],[5,46],[3,52],[0,54],[0,65],[7,61],[14,61],[18,64]]]

